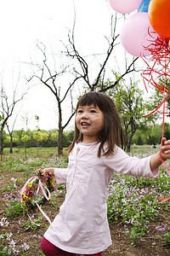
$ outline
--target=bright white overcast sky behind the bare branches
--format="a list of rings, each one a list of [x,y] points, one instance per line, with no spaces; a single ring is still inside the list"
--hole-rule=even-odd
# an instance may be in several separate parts
[[[74,7],[79,49],[88,55],[104,52],[107,44],[105,36],[111,34],[111,15],[114,11],[107,0],[75,0],[74,4],[72,0],[0,0],[0,76],[8,95],[16,84],[18,88],[26,88],[23,77],[31,74],[31,61],[38,63],[42,58],[37,43],[45,44],[48,49],[60,49],[59,40],[65,42],[68,29],[73,26]],[[121,17],[118,16],[119,19]],[[120,49],[123,51],[122,46]],[[68,79],[63,84],[68,84]],[[27,128],[36,129],[35,115],[39,117],[41,129],[58,128],[58,110],[53,94],[37,81],[31,85],[34,86],[15,109],[18,117],[14,130],[26,129],[26,118]],[[65,113],[69,112],[69,108],[70,105],[65,103]],[[13,123],[14,116],[9,125]],[[67,129],[72,129],[73,125],[74,119]]]

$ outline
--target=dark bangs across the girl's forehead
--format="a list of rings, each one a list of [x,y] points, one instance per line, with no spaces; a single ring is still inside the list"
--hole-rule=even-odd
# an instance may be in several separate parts
[[[99,93],[90,91],[83,95],[80,100],[77,102],[77,109],[80,106],[90,106],[94,105],[94,107],[98,106],[101,111],[103,111],[102,108],[102,99]]]

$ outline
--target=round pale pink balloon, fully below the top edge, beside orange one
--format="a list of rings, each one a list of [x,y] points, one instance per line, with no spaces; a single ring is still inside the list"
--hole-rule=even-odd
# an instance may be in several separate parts
[[[134,14],[122,26],[122,46],[129,54],[134,56],[149,56],[151,54],[150,50],[146,50],[144,47],[152,44],[157,37],[158,34],[150,25],[148,13]]]

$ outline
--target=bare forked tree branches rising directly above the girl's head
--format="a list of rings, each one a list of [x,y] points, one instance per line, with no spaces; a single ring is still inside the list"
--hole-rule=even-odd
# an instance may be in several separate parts
[[[116,48],[116,45],[118,44],[117,38],[119,37],[119,34],[116,34],[116,15],[115,20],[113,22],[113,16],[111,16],[111,39],[105,38],[108,43],[108,48],[105,49],[105,54],[102,60],[97,59],[97,55],[94,54],[94,58],[97,60],[96,64],[98,63],[98,72],[96,73],[95,78],[90,81],[90,74],[91,74],[91,68],[90,63],[92,61],[92,56],[83,56],[80,54],[79,50],[77,49],[77,44],[75,41],[75,26],[76,26],[76,19],[73,26],[72,33],[68,34],[69,39],[69,45],[65,45],[65,54],[70,56],[71,59],[74,59],[77,61],[77,66],[74,67],[74,73],[76,73],[85,83],[86,88],[88,87],[88,90],[99,90],[99,92],[105,92],[107,90],[111,90],[111,88],[115,87],[116,84],[118,84],[128,73],[132,73],[135,71],[134,63],[138,60],[138,57],[133,58],[133,61],[125,67],[125,70],[119,75],[115,77],[115,81],[112,81],[111,83],[106,85],[106,79],[105,79],[105,71],[106,71],[106,65],[108,61],[111,59],[111,55],[113,53],[113,50]],[[88,62],[89,60],[89,62]],[[96,65],[97,66],[97,65]],[[116,73],[114,71],[113,73]]]

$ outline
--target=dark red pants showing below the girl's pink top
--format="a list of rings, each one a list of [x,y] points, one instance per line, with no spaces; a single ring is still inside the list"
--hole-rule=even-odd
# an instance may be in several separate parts
[[[44,236],[42,237],[41,241],[41,249],[42,253],[46,256],[76,256],[75,253],[68,253],[65,252],[58,247],[55,247],[53,243],[48,241]],[[102,256],[102,253],[94,253],[94,254],[84,254],[86,256]]]

